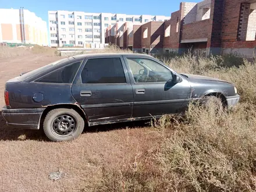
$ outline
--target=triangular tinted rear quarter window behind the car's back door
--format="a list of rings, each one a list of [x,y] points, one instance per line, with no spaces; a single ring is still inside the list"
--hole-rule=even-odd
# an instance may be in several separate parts
[[[76,76],[77,70],[81,65],[81,61],[72,63],[61,69],[57,69],[43,77],[41,77],[36,82],[41,83],[72,83],[74,76]]]

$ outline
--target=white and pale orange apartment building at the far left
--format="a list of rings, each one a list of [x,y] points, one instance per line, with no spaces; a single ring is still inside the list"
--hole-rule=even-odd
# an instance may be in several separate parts
[[[27,9],[0,9],[0,42],[48,45],[47,22]]]

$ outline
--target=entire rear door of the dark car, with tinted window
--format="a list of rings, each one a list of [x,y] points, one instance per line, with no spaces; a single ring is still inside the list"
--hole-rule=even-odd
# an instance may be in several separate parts
[[[75,81],[72,94],[89,123],[131,118],[133,91],[122,56],[86,59]]]

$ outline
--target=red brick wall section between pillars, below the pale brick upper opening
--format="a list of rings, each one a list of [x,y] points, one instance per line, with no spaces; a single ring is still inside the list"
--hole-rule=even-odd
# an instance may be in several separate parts
[[[207,38],[208,37],[208,26],[209,19],[201,20],[199,22],[183,24],[181,31],[182,40],[193,40],[198,38]]]

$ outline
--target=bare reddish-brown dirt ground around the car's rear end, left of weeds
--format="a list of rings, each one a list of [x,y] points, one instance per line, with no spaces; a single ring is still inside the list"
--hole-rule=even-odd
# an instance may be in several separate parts
[[[0,106],[7,80],[58,59],[43,54],[0,59]],[[0,191],[95,191],[105,166],[122,169],[152,147],[154,133],[146,126],[145,122],[97,126],[77,140],[52,143],[42,130],[6,127],[0,115]],[[133,127],[137,128],[126,129]],[[49,180],[49,173],[59,169],[66,174]]]

